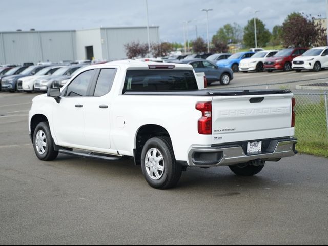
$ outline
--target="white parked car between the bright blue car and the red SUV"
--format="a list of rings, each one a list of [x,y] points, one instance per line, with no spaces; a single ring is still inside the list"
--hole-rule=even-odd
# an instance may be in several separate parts
[[[239,63],[239,71],[244,73],[248,71],[262,72],[265,59],[277,53],[278,50],[263,50],[255,53],[249,59],[242,59]]]

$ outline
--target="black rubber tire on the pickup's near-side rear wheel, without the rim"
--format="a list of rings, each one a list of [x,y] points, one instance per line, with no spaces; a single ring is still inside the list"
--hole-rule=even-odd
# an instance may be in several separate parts
[[[152,167],[146,167],[146,155],[147,153],[151,153],[151,150],[154,148],[160,152],[163,159],[163,171],[160,173],[161,176],[157,180],[151,177],[153,175],[156,176],[155,171],[151,170]],[[152,161],[154,161],[154,159],[152,159]],[[154,163],[148,163],[149,165],[154,165]],[[176,186],[181,177],[182,166],[175,161],[174,152],[169,137],[153,137],[146,142],[141,152],[141,169],[146,181],[153,188],[164,190]],[[150,172],[150,174],[148,174],[148,172]]]

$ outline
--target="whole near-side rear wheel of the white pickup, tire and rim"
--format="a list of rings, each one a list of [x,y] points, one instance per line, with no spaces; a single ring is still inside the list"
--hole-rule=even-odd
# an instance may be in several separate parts
[[[153,137],[146,142],[141,153],[141,169],[153,188],[164,190],[178,183],[182,167],[175,161],[169,137]]]

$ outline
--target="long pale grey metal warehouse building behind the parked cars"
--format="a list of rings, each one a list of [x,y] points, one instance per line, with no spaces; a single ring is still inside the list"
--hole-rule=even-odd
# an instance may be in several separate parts
[[[159,27],[149,28],[150,42],[159,42]],[[68,31],[0,32],[0,64],[126,58],[124,45],[148,43],[147,27],[95,28]]]

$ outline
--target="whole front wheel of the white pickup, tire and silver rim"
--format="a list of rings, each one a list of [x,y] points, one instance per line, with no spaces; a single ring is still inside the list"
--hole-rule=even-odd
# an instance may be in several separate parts
[[[37,158],[44,161],[54,160],[58,151],[54,150],[54,142],[47,122],[40,122],[33,134],[33,147]]]

